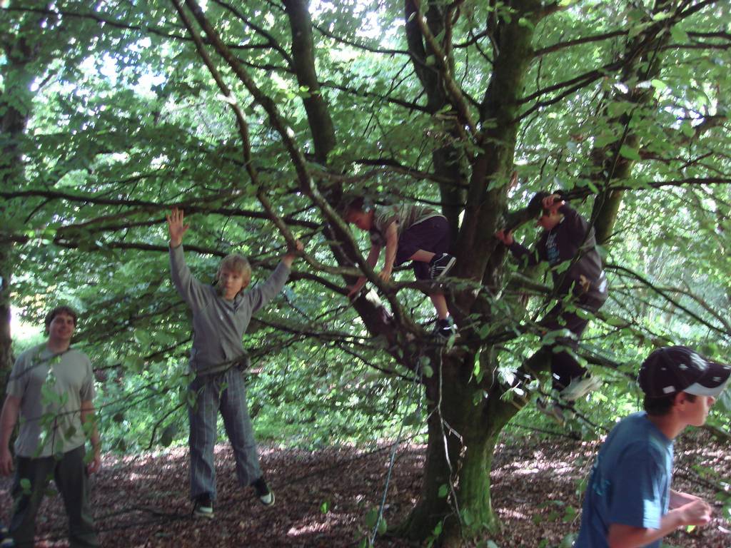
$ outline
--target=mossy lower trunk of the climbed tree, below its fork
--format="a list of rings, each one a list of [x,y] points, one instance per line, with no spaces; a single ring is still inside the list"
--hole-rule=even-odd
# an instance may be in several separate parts
[[[398,530],[409,539],[435,536],[442,546],[461,546],[500,527],[490,472],[499,435],[523,403],[503,400],[504,388],[497,383],[477,384],[473,359],[471,354],[446,357],[441,372],[436,368],[426,382],[430,415],[420,500]],[[531,366],[545,369],[547,363],[538,356]],[[482,389],[488,397],[474,400]]]

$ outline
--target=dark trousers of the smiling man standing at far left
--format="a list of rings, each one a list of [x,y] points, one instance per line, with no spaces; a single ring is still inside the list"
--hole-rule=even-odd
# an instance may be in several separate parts
[[[60,459],[56,457],[15,459],[15,478],[11,491],[14,506],[9,526],[15,546],[28,548],[34,546],[36,514],[52,477],[64,499],[69,517],[71,548],[98,547],[99,541],[96,539],[94,520],[88,504],[88,473],[84,464],[83,446],[64,453]],[[29,492],[23,490],[21,484],[23,479],[30,482]]]

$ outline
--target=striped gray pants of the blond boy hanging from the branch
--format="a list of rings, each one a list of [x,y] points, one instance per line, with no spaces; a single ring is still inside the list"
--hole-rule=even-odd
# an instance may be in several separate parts
[[[233,448],[238,483],[246,487],[259,479],[262,470],[246,406],[246,384],[240,370],[230,368],[222,373],[197,376],[189,390],[196,395],[195,406],[188,408],[191,498],[205,494],[216,498],[213,447],[219,410]]]

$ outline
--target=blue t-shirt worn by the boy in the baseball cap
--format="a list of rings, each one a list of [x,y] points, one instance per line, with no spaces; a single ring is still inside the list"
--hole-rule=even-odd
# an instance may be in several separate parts
[[[673,441],[647,414],[622,419],[599,449],[591,471],[575,548],[607,548],[612,523],[659,529],[670,504]],[[659,548],[662,541],[648,544]]]

